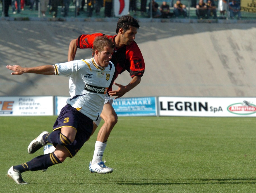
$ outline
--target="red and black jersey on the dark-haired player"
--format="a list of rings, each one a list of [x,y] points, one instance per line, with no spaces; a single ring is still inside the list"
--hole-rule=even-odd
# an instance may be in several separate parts
[[[82,34],[76,39],[76,46],[80,49],[93,48],[93,42],[95,37],[105,35],[103,33],[94,34]],[[106,35],[108,38],[114,38],[116,35]],[[145,71],[145,62],[142,53],[136,42],[132,42],[130,45],[125,45],[121,48],[115,48],[112,54],[111,62],[113,62],[116,71],[114,77],[109,86],[109,90],[112,90],[114,80],[118,74],[121,74],[125,70],[130,73],[131,78],[134,76],[143,76]]]

